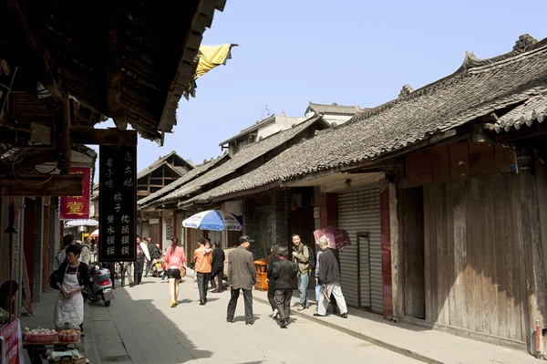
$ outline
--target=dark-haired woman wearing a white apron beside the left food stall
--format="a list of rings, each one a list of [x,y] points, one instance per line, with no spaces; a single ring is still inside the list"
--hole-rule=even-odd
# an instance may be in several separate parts
[[[88,265],[78,260],[81,253],[77,245],[67,246],[67,262],[59,266],[57,297],[53,318],[57,330],[80,329],[84,323],[84,297],[82,290],[88,286]]]

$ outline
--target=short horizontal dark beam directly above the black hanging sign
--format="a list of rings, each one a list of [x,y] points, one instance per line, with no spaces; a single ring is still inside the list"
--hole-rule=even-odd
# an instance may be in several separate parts
[[[70,139],[73,144],[92,145],[137,145],[137,130],[89,129],[71,130]]]

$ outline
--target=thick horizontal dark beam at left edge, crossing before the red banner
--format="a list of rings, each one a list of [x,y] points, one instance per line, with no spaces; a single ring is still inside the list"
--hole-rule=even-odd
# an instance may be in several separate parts
[[[82,175],[55,174],[3,176],[1,196],[77,196],[82,194]]]

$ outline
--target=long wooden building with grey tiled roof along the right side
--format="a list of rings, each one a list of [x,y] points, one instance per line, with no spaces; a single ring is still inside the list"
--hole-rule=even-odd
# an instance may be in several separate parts
[[[547,329],[546,56],[547,39],[528,35],[499,57],[468,53],[446,78],[192,201],[267,192],[283,223],[296,189],[314,187],[315,226],[351,234],[349,306],[535,354],[536,321]]]

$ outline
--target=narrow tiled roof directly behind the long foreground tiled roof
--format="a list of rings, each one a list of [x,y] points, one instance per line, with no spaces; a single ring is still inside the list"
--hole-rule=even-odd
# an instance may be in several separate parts
[[[187,196],[192,192],[200,190],[201,186],[208,183],[217,181],[222,177],[225,177],[232,172],[236,172],[238,169],[242,168],[247,163],[256,160],[257,158],[263,156],[268,151],[272,151],[285,142],[294,139],[301,132],[312,126],[315,122],[318,122],[323,119],[318,116],[314,116],[307,121],[304,121],[301,124],[294,126],[291,129],[279,131],[275,134],[270,135],[263,140],[258,140],[252,144],[246,145],[241,151],[233,155],[230,161],[226,161],[219,168],[215,168],[211,172],[208,172],[202,175],[200,178],[183,185],[180,189],[171,192],[169,195],[161,198],[158,202],[167,202],[172,200],[177,200],[181,197]]]

